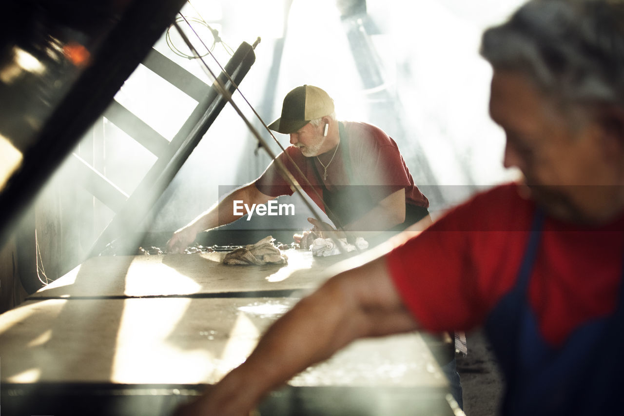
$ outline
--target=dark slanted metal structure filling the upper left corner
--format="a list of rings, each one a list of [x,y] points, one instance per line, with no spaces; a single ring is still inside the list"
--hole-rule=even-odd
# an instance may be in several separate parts
[[[0,176],[0,246],[183,4],[3,3],[10,19],[0,32],[0,140],[22,160],[7,177]]]

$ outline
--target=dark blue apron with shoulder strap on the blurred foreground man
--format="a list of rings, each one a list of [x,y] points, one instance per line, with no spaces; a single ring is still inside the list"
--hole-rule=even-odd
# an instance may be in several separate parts
[[[505,415],[624,414],[624,259],[620,299],[610,317],[575,329],[553,348],[542,339],[527,304],[532,267],[538,253],[544,213],[535,212],[529,242],[515,286],[490,312],[490,342],[507,378]]]

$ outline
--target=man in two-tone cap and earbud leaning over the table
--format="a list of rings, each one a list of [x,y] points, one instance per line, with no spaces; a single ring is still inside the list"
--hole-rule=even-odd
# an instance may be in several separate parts
[[[429,201],[414,185],[396,142],[379,127],[336,121],[334,102],[319,87],[300,86],[286,95],[281,117],[268,126],[290,134],[278,159],[338,228],[349,236],[399,232],[427,218]],[[180,252],[199,232],[229,224],[233,201],[266,204],[293,191],[275,162],[255,182],[240,187],[180,230],[168,242]],[[321,230],[332,230],[319,224]],[[344,235],[338,235],[344,237]]]

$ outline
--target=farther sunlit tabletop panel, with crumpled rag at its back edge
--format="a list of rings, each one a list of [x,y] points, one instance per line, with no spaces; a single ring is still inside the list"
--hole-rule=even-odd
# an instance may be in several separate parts
[[[142,297],[313,289],[347,255],[286,250],[288,264],[224,265],[225,253],[92,257],[30,299]],[[349,256],[353,257],[353,256]]]

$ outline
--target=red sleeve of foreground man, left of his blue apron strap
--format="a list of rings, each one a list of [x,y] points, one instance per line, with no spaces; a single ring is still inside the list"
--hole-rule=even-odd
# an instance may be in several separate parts
[[[532,209],[510,194],[515,187],[477,196],[388,254],[391,279],[424,329],[472,329],[514,284]]]

